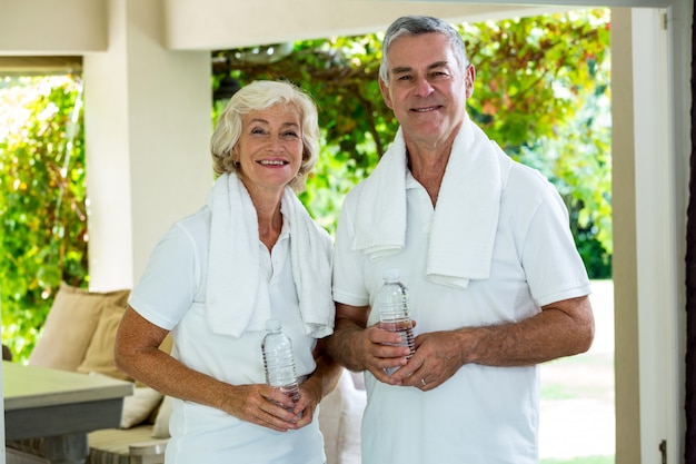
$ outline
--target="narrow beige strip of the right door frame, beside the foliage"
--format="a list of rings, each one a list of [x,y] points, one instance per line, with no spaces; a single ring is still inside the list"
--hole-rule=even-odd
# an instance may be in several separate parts
[[[630,10],[612,11],[613,86],[612,162],[615,299],[615,397],[616,454],[622,463],[639,463],[640,395],[639,378],[637,269],[636,269],[636,196],[634,164],[634,91]],[[626,52],[620,52],[620,51]]]

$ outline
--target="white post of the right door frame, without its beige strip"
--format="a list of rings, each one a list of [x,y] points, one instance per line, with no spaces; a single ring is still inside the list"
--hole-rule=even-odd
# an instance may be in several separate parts
[[[633,9],[635,265],[640,462],[684,454],[685,199],[690,9]],[[615,53],[616,50],[613,50]],[[617,83],[614,83],[616,88]],[[618,166],[615,166],[615,172]],[[615,184],[616,185],[616,184]],[[618,322],[617,322],[618,324]],[[635,324],[635,323],[634,323]],[[617,363],[623,362],[618,356]],[[617,364],[618,373],[618,364]],[[618,383],[617,383],[618,384]],[[617,398],[623,391],[617,391]],[[634,447],[638,445],[634,442]],[[618,455],[617,455],[618,458]],[[618,460],[617,460],[618,463]],[[619,463],[620,464],[620,463]]]

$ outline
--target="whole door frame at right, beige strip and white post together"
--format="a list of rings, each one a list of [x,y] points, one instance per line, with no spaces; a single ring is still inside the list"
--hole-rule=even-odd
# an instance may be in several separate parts
[[[617,464],[684,454],[689,10],[612,11]]]

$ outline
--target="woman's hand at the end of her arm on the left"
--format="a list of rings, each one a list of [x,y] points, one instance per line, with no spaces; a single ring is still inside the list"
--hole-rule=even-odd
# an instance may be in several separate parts
[[[287,432],[298,428],[298,415],[292,413],[295,404],[281,393],[266,384],[230,385],[222,409],[235,417],[271,428]]]

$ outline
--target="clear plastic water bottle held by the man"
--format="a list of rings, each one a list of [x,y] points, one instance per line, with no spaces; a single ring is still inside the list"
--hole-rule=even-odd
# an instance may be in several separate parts
[[[407,356],[410,358],[416,346],[410,319],[408,288],[399,282],[399,269],[385,269],[382,277],[385,283],[377,294],[379,327],[399,334],[401,336],[399,345],[410,348],[410,354]],[[389,367],[385,372],[391,375],[397,369],[398,367]]]

